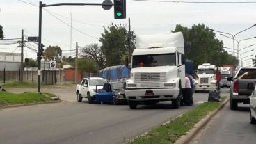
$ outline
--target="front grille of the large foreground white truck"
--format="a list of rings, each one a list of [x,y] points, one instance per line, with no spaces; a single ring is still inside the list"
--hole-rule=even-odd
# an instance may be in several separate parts
[[[166,73],[165,72],[135,73],[134,82],[166,82]]]

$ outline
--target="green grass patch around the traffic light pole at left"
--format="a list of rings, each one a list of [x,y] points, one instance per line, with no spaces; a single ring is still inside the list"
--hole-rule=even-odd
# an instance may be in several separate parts
[[[13,104],[29,104],[35,102],[49,102],[51,97],[45,96],[43,93],[8,93],[0,92],[0,108],[1,106],[8,106]]]

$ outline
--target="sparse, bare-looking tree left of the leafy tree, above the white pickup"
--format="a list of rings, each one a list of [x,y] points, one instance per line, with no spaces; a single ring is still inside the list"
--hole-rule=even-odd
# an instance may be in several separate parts
[[[103,54],[103,51],[101,47],[97,44],[91,44],[91,45],[86,45],[86,47],[83,47],[82,49],[82,56],[83,58],[88,58],[90,60],[93,60],[97,63],[99,66],[99,69],[104,68],[106,65],[106,58]]]

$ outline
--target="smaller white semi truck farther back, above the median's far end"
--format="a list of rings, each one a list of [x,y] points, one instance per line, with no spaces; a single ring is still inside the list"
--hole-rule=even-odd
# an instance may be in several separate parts
[[[217,67],[210,63],[198,65],[198,79],[195,80],[195,93],[198,91],[210,91],[217,89],[216,70]]]

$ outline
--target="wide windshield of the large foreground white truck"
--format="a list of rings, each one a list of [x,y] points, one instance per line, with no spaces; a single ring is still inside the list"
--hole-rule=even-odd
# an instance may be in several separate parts
[[[132,67],[156,67],[176,65],[176,54],[151,54],[132,57]]]

